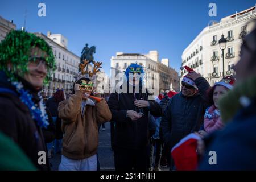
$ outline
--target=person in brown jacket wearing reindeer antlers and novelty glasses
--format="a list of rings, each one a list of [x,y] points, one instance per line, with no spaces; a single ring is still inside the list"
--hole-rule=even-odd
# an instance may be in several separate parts
[[[94,82],[101,68],[93,61],[93,72],[84,71],[89,61],[80,64],[81,73],[73,85],[73,94],[59,104],[59,117],[62,119],[63,151],[59,170],[96,171],[98,147],[98,123],[110,121],[112,114],[106,101],[96,93]],[[94,102],[91,95],[96,98]],[[97,98],[98,97],[98,98]]]

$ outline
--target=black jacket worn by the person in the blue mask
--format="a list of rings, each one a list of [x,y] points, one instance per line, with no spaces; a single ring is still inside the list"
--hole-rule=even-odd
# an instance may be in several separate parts
[[[135,94],[137,100],[143,98],[148,100],[148,94],[137,93]],[[127,110],[136,110],[134,105],[133,93],[112,93],[110,95],[108,105],[112,113],[112,121],[114,124],[114,147],[123,147],[130,149],[140,149],[146,147],[150,141],[150,134],[148,130],[148,112],[155,117],[162,114],[162,109],[159,104],[154,100],[149,101],[150,107],[143,108],[143,117],[137,121],[131,121],[126,117]]]

